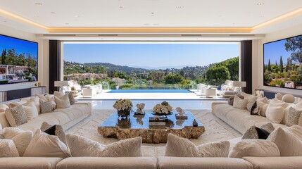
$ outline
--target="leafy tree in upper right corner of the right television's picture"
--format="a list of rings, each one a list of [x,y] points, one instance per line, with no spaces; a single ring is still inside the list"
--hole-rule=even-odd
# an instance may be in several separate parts
[[[284,44],[285,50],[292,51],[291,59],[302,63],[302,37],[291,37]]]

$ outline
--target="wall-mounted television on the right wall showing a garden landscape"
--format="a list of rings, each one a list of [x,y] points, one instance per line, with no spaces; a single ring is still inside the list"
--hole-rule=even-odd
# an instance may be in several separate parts
[[[302,35],[263,44],[263,84],[302,89]]]

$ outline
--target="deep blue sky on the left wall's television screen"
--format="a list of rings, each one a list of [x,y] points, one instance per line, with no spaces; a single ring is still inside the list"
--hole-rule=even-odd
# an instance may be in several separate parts
[[[31,54],[32,57],[37,58],[38,56],[38,44],[34,42],[28,42],[21,39],[15,39],[13,37],[6,37],[0,35],[0,52],[2,54],[3,49],[15,49],[17,54]]]

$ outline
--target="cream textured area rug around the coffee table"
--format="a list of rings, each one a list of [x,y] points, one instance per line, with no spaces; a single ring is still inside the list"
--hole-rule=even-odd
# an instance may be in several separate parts
[[[220,140],[229,140],[240,137],[241,134],[234,130],[232,127],[227,125],[219,118],[216,118],[213,113],[209,110],[188,110],[203,124],[206,128],[199,139],[190,139],[196,145],[204,144],[208,142],[217,142]],[[114,138],[104,138],[97,132],[97,127],[104,120],[106,120],[115,110],[96,110],[92,111],[92,115],[88,118],[82,120],[77,125],[70,127],[66,130],[66,133],[78,134],[89,139],[92,139],[101,144],[111,144],[113,142],[118,142],[118,139]],[[232,143],[232,142],[231,142]],[[141,147],[143,156],[164,156],[165,154],[165,144],[146,144],[144,143]]]

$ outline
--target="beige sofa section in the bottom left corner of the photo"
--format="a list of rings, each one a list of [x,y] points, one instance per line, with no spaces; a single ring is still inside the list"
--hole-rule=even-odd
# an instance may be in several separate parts
[[[54,169],[62,158],[14,157],[0,158],[0,168],[5,169]]]

